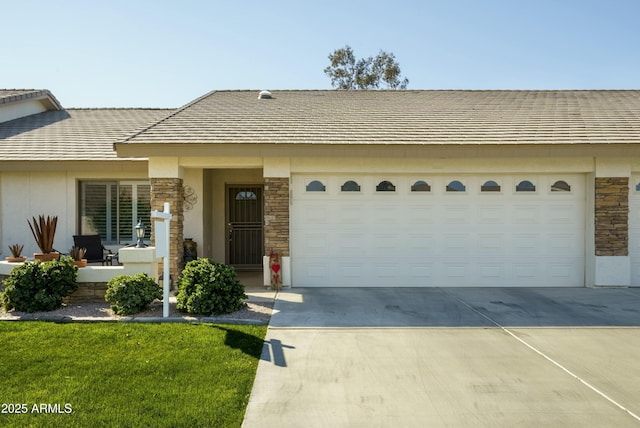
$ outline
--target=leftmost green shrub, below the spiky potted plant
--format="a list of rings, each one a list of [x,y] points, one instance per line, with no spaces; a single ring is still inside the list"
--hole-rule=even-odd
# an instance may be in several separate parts
[[[53,311],[62,306],[64,297],[78,289],[77,276],[78,268],[71,257],[23,263],[4,280],[0,304],[7,311]]]

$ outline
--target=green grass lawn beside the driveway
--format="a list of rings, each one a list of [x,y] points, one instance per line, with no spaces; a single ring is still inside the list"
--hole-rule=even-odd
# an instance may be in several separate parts
[[[239,427],[266,329],[1,322],[0,426]]]

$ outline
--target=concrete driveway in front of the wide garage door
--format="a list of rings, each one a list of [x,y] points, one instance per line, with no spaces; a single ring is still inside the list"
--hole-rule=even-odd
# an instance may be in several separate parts
[[[243,426],[639,427],[640,289],[280,292]]]

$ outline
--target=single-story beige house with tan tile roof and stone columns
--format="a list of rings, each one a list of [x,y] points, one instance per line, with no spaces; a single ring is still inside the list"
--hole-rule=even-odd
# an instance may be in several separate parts
[[[640,286],[640,91],[213,91],[176,110],[0,91],[3,251],[26,218],[321,286]],[[28,240],[29,242],[25,242]],[[30,251],[33,250],[30,247]]]

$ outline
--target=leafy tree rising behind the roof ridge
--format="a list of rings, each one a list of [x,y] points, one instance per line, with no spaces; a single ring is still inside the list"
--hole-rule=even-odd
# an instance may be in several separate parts
[[[349,45],[329,55],[331,65],[324,72],[336,89],[406,89],[409,79],[402,80],[400,65],[392,53],[380,51],[378,55],[356,60]]]

